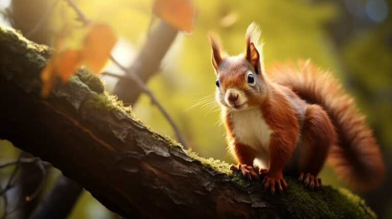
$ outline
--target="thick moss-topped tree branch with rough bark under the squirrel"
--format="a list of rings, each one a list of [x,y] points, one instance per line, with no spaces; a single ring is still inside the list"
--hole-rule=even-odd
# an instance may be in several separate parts
[[[229,165],[201,158],[142,124],[82,68],[39,97],[51,49],[0,28],[0,138],[49,161],[124,217],[375,217],[345,189],[310,192],[286,176],[271,197]]]

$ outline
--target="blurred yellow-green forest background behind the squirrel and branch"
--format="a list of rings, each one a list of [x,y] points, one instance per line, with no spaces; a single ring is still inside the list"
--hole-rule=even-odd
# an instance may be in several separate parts
[[[226,153],[224,127],[219,125],[216,104],[204,100],[215,91],[215,74],[210,62],[211,51],[207,40],[214,31],[223,40],[229,54],[244,49],[244,34],[248,25],[256,21],[262,29],[264,62],[271,66],[310,58],[314,64],[330,70],[340,79],[345,89],[355,97],[360,111],[367,116],[383,151],[387,173],[384,183],[374,191],[360,193],[380,218],[392,217],[392,3],[385,0],[261,0],[261,1],[203,1],[191,0],[196,9],[193,31],[190,34],[171,30],[152,13],[153,0],[79,0],[74,1],[87,17],[95,22],[107,23],[118,34],[119,40],[113,56],[122,65],[134,66],[145,47],[162,52],[158,68],[149,75],[141,75],[166,111],[180,129],[184,144],[203,157],[234,162]],[[51,9],[53,8],[53,10]],[[30,40],[53,46],[56,33],[64,19],[75,25],[77,14],[65,1],[57,0],[1,0],[0,25],[21,30]],[[49,12],[49,13],[48,13]],[[43,24],[31,32],[40,19]],[[165,26],[166,25],[166,26]],[[167,37],[166,47],[155,45]],[[168,33],[167,33],[168,32]],[[155,35],[154,35],[155,34]],[[77,39],[78,34],[74,35]],[[171,38],[170,38],[171,37]],[[72,39],[69,45],[72,45]],[[75,40],[77,41],[77,40]],[[171,43],[173,41],[173,43]],[[155,44],[154,44],[155,43]],[[163,46],[164,47],[164,46]],[[167,50],[167,51],[166,51]],[[155,60],[156,61],[156,60]],[[149,63],[147,63],[148,65]],[[148,70],[148,71],[150,71]],[[120,74],[113,63],[103,70]],[[143,72],[141,70],[141,72]],[[107,90],[116,93],[117,78],[102,76]],[[118,94],[118,93],[117,93]],[[119,94],[127,96],[128,94]],[[204,98],[204,99],[203,99]],[[121,98],[120,98],[121,99]],[[176,135],[145,94],[136,95],[131,104],[134,112],[145,124],[163,135]],[[2,106],[3,107],[3,106]],[[0,164],[29,157],[6,140],[0,142]],[[50,165],[47,165],[50,166]],[[0,169],[0,185],[4,188],[14,166]],[[56,182],[60,172],[46,167],[47,173],[23,178],[34,172],[33,164],[23,165],[16,175],[20,183],[9,190],[7,218],[27,217]],[[333,170],[324,168],[321,177],[325,184],[346,186],[337,180]],[[27,179],[27,180],[23,180]],[[23,202],[26,190],[42,184],[37,198]],[[2,194],[3,195],[3,194]],[[26,202],[26,200],[24,200]],[[0,199],[0,216],[4,212],[4,199]],[[83,191],[69,218],[117,218]]]

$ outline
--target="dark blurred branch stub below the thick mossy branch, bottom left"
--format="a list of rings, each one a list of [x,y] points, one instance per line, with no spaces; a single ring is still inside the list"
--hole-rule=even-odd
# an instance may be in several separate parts
[[[51,192],[33,211],[29,219],[66,218],[82,191],[83,187],[79,183],[60,175]]]

